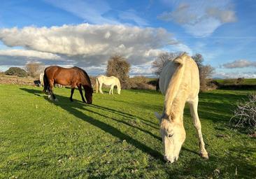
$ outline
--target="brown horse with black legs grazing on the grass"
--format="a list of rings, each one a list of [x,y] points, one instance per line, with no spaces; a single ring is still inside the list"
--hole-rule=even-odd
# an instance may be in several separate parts
[[[45,74],[43,76],[44,89],[43,92],[48,92],[50,98],[57,100],[55,95],[52,93],[52,87],[55,83],[59,85],[71,85],[71,96],[70,100],[73,101],[72,96],[75,87],[78,87],[80,95],[83,102],[85,99],[83,97],[82,86],[85,89],[85,98],[87,103],[92,103],[92,83],[87,75],[87,73],[76,66],[66,69],[60,66],[48,66],[45,69]]]

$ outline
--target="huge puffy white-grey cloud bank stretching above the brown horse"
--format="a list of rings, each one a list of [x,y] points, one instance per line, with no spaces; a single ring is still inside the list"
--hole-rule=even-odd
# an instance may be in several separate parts
[[[104,65],[114,53],[125,55],[131,64],[145,64],[166,45],[190,50],[162,28],[111,24],[0,29],[0,40],[9,47],[21,46],[71,59],[80,66]]]

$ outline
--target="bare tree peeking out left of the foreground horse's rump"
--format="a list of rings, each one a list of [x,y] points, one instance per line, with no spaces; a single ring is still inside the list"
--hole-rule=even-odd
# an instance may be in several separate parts
[[[154,62],[152,62],[152,69],[155,71],[155,74],[157,76],[160,75],[162,72],[162,69],[164,67],[164,64],[166,61],[170,59],[174,59],[180,55],[181,52],[162,52],[158,55],[158,57],[155,59]]]

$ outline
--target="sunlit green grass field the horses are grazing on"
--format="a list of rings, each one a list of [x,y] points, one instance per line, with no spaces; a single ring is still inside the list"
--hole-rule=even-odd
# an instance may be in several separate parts
[[[228,126],[246,91],[215,90],[199,96],[199,117],[210,159],[199,152],[190,111],[178,162],[163,161],[154,112],[164,97],[155,91],[94,94],[81,103],[78,90],[0,85],[0,178],[255,178],[256,145]],[[114,91],[116,92],[116,91]]]

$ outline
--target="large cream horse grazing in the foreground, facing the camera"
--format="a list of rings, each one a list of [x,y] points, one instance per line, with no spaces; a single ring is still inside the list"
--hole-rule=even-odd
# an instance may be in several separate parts
[[[160,122],[160,133],[164,143],[164,159],[176,162],[185,141],[183,110],[190,103],[190,113],[199,138],[200,156],[208,159],[201,134],[201,122],[197,113],[199,94],[199,70],[194,60],[183,53],[166,62],[159,76],[159,88],[165,94],[162,115],[155,113]]]

